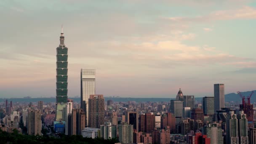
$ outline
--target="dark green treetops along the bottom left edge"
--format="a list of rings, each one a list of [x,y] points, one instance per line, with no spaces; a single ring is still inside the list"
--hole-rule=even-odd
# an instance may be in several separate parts
[[[116,139],[91,139],[83,138],[81,135],[62,135],[60,138],[56,138],[53,136],[21,135],[16,130],[13,133],[0,130],[0,144],[115,144],[116,142]]]

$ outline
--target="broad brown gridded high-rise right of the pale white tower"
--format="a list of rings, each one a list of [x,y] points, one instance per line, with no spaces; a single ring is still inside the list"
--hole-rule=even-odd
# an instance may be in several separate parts
[[[90,95],[89,99],[89,127],[100,128],[104,124],[104,97],[103,95]]]

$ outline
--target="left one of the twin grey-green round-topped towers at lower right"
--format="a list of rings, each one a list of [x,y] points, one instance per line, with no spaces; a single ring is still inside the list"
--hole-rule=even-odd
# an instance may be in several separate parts
[[[227,115],[227,135],[226,135],[226,144],[238,144],[238,120],[237,115],[234,111],[230,111]]]

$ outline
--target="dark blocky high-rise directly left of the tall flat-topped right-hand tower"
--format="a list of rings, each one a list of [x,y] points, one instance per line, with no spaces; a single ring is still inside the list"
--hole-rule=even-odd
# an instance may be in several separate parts
[[[203,97],[202,107],[204,115],[214,115],[214,97]]]

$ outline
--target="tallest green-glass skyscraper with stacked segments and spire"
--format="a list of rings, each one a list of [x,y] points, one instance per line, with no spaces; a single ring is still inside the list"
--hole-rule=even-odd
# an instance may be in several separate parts
[[[67,50],[64,44],[63,29],[61,29],[60,44],[57,51],[56,68],[56,121],[65,121],[67,103]]]

